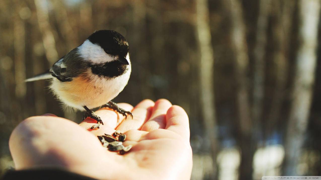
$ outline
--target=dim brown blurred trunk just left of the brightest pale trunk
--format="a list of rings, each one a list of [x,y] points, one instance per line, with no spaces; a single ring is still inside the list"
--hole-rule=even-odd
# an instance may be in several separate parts
[[[273,62],[275,66],[274,95],[271,102],[271,110],[267,120],[266,131],[271,132],[273,125],[278,124],[282,103],[284,101],[285,88],[289,71],[289,47],[292,29],[292,17],[295,1],[273,1],[273,14],[275,14],[275,25],[272,27],[272,38],[274,44]]]

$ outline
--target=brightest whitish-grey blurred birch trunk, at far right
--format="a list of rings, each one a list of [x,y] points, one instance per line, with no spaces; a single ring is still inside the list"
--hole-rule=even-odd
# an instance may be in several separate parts
[[[299,1],[301,43],[297,53],[293,101],[285,142],[285,175],[298,175],[296,168],[308,125],[315,79],[319,16],[319,0]]]

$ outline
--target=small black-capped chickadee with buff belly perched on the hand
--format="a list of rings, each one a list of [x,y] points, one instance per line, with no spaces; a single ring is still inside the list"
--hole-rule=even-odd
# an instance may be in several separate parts
[[[133,117],[114,99],[127,85],[131,74],[129,46],[124,36],[113,30],[96,30],[81,45],[60,58],[44,73],[25,82],[50,79],[49,88],[66,106],[85,110],[83,120],[103,122],[91,109],[108,107],[127,118]]]

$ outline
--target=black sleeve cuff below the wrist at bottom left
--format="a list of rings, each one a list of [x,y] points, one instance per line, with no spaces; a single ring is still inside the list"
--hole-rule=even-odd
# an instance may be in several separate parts
[[[9,170],[7,171],[1,180],[97,180],[91,177],[82,176],[76,173],[65,171],[59,168],[39,168],[39,169],[29,169],[29,170]]]

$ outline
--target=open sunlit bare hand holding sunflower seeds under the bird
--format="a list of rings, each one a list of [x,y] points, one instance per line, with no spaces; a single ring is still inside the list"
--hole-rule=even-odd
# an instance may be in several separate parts
[[[9,140],[17,170],[61,167],[97,179],[190,179],[192,150],[189,123],[184,109],[168,100],[143,100],[134,108],[118,105],[133,113],[123,117],[106,108],[95,113],[104,125],[89,131],[96,120],[80,124],[52,114],[25,119]],[[125,155],[104,148],[97,135],[115,130],[127,135],[124,145],[133,145]]]

